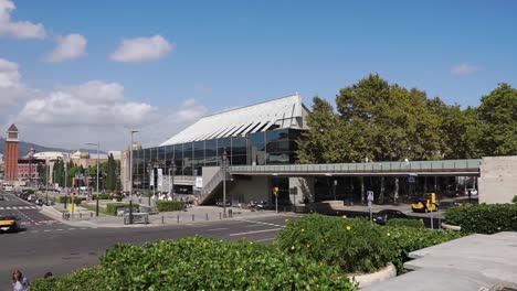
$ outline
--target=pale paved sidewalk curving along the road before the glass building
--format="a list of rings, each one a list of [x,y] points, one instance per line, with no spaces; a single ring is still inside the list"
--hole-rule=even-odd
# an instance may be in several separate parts
[[[146,204],[144,204],[146,205]],[[275,213],[274,211],[255,211],[239,209],[236,207],[226,207],[228,214],[232,213],[232,216],[228,215],[223,218],[223,208],[218,206],[192,206],[182,212],[166,212],[155,215],[149,215],[149,224],[133,224],[125,225],[123,217],[104,215],[99,213],[99,216],[95,216],[95,212],[82,209],[81,205],[77,206],[76,213],[70,219],[63,219],[62,212],[64,211],[63,205],[43,206],[42,212],[54,219],[67,224],[71,226],[81,227],[158,227],[167,225],[191,225],[197,223],[209,223],[209,222],[221,222],[228,219],[250,219],[260,217],[272,217],[272,216],[295,216],[293,213]]]

